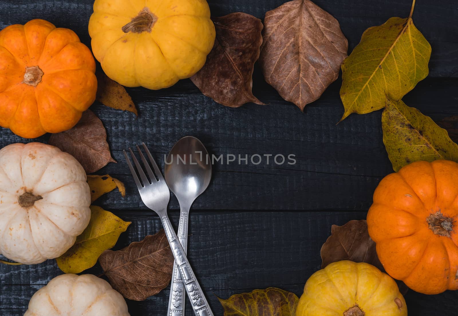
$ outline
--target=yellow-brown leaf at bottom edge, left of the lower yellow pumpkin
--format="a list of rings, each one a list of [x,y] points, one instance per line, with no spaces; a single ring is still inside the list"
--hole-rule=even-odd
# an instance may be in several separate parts
[[[299,298],[277,288],[236,294],[227,300],[218,298],[224,316],[295,316]]]

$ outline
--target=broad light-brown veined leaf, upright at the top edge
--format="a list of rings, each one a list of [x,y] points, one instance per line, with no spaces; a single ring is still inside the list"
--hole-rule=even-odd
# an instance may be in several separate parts
[[[259,58],[267,83],[304,110],[338,78],[348,41],[339,22],[310,0],[268,11]]]

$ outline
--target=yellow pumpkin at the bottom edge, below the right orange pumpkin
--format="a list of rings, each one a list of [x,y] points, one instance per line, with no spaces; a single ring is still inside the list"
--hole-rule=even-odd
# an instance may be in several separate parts
[[[407,316],[407,306],[388,274],[344,260],[312,274],[296,316]]]

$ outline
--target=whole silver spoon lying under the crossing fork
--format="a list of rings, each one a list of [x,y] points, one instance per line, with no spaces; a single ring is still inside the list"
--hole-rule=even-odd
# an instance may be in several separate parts
[[[207,149],[196,137],[186,136],[175,143],[165,161],[165,181],[180,203],[178,239],[186,251],[189,210],[197,196],[207,189],[212,178],[212,163]],[[174,263],[167,315],[185,315],[185,288]]]

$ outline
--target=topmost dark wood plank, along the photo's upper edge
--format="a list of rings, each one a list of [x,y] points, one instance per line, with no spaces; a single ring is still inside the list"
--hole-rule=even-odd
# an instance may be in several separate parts
[[[242,11],[263,19],[268,10],[285,0],[210,0],[213,16]],[[350,52],[362,33],[371,26],[384,23],[392,16],[407,17],[410,1],[397,0],[315,0],[317,5],[335,16],[349,39]],[[89,45],[87,23],[93,0],[2,0],[0,29],[10,24],[24,24],[34,18],[48,20],[59,27],[74,30]],[[458,77],[458,8],[454,0],[419,1],[414,11],[414,23],[433,47],[430,63],[432,77]]]

